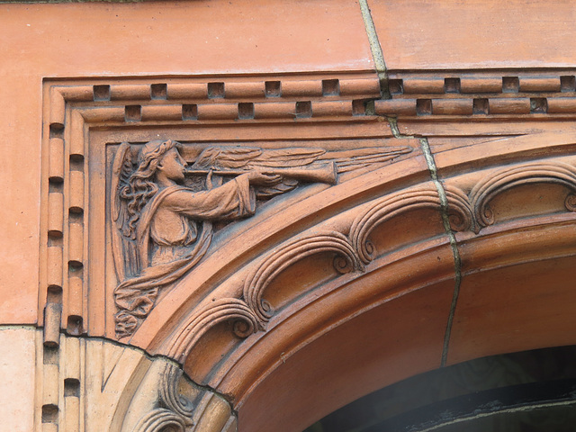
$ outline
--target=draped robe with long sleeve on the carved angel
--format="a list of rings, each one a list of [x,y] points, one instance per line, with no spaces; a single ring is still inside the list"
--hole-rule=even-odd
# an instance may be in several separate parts
[[[210,246],[211,220],[235,220],[256,211],[248,176],[239,175],[207,191],[180,185],[161,189],[140,213],[136,231],[138,275],[114,290],[119,317],[145,317],[158,287],[170,284],[195,266]]]

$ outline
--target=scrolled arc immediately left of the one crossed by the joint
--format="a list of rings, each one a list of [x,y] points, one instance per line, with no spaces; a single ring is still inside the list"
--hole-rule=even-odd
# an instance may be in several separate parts
[[[258,320],[267,322],[274,314],[274,308],[263,298],[263,293],[275,276],[295,262],[321,252],[336,254],[333,264],[338,273],[364,268],[348,238],[337,231],[320,232],[285,242],[262,260],[244,284],[244,298]]]

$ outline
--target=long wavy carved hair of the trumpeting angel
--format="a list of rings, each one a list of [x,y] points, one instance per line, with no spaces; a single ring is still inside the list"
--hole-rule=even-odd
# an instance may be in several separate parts
[[[158,192],[158,185],[154,182],[157,167],[162,157],[170,149],[175,148],[176,141],[157,139],[149,141],[139,152],[138,168],[128,180],[128,184],[121,189],[121,198],[128,201],[128,230],[124,235],[136,238],[136,225],[140,217],[140,211],[148,201]]]

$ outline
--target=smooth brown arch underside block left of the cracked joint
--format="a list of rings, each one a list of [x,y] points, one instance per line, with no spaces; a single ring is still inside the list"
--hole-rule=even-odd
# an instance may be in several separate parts
[[[242,405],[240,430],[302,430],[366,392],[438,367],[452,285],[406,294],[286,352]]]

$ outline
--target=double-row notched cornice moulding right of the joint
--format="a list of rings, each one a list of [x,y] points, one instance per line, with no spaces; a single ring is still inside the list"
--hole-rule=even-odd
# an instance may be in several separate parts
[[[542,71],[498,75],[479,72],[394,73],[391,99],[375,101],[377,114],[427,120],[472,116],[559,118],[576,113],[576,72]]]

